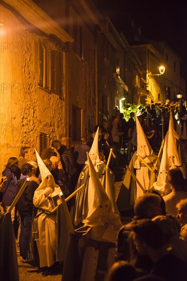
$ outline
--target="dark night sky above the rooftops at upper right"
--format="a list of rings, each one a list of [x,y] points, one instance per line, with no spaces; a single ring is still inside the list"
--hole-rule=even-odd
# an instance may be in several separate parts
[[[187,2],[182,0],[93,0],[102,13],[110,16],[118,31],[127,38],[130,21],[142,28],[143,38],[170,44],[186,65]]]

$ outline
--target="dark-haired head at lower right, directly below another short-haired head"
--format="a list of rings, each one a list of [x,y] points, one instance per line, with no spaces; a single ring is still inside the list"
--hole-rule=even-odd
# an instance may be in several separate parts
[[[134,244],[140,255],[149,255],[166,244],[161,226],[154,221],[140,220],[132,230]]]

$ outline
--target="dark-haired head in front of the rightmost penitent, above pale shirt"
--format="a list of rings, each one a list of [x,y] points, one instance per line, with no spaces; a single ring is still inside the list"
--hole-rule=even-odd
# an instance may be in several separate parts
[[[183,190],[184,178],[182,172],[177,168],[171,169],[168,173],[168,182],[171,184],[174,190]]]

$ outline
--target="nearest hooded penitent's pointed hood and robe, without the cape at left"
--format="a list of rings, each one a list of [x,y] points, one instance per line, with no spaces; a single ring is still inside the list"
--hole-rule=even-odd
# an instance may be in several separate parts
[[[104,280],[115,256],[117,233],[122,226],[118,214],[112,210],[112,203],[100,183],[98,175],[89,161],[88,216],[84,227],[91,229],[83,237],[84,249],[80,281]]]

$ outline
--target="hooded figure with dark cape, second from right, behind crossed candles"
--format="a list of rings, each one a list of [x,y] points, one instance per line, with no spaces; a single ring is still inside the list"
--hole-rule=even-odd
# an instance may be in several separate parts
[[[128,167],[136,175],[144,190],[148,190],[152,187],[153,182],[156,181],[156,173],[155,171],[151,172],[138,155],[143,158],[150,168],[153,168],[157,156],[153,152],[137,116],[136,126],[138,146],[137,151],[133,154]],[[157,165],[159,165],[158,159]],[[120,212],[133,209],[136,198],[142,196],[143,194],[144,193],[139,184],[132,178],[131,174],[126,171],[116,202]]]

